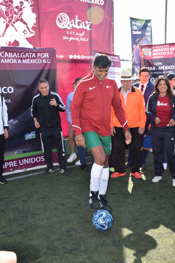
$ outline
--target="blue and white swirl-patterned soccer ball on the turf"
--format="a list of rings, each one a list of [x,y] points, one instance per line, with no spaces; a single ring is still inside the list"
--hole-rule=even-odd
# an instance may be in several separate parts
[[[107,210],[100,209],[94,213],[92,223],[97,230],[105,231],[112,226],[113,218]]]

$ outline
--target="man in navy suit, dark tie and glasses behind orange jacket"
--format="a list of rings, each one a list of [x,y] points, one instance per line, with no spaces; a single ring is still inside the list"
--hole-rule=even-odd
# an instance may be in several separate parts
[[[148,101],[150,95],[154,91],[154,85],[153,85],[153,83],[151,83],[149,81],[150,70],[146,67],[141,68],[139,70],[139,79],[140,79],[140,82],[135,83],[134,86],[141,89],[141,91],[144,94],[145,105],[147,105],[147,101]],[[145,124],[145,131],[144,131],[143,136],[148,133],[149,124],[150,124],[150,120],[147,118],[146,124]],[[142,143],[143,143],[143,140],[142,140]],[[148,150],[142,150],[142,169],[145,168],[147,154],[148,154]],[[131,165],[132,165],[132,158],[131,158],[131,154],[129,151],[128,163],[125,165],[125,168],[129,168],[129,167],[131,167]]]

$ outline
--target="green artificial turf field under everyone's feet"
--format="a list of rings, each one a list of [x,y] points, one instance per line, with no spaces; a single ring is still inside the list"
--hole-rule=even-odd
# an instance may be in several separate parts
[[[144,179],[130,169],[109,179],[114,220],[104,232],[93,227],[96,210],[88,204],[91,164],[70,168],[68,176],[58,169],[47,176],[45,169],[7,175],[31,176],[0,185],[0,250],[14,251],[18,263],[175,262],[175,188],[168,169],[152,183],[152,153],[145,166]]]

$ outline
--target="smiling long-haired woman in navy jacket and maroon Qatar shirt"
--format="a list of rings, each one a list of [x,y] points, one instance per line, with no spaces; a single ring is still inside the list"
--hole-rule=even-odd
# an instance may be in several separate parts
[[[154,157],[155,177],[152,182],[158,183],[162,180],[164,145],[173,186],[175,186],[175,96],[165,76],[157,78],[154,89],[146,107],[146,115],[151,120],[150,135]]]

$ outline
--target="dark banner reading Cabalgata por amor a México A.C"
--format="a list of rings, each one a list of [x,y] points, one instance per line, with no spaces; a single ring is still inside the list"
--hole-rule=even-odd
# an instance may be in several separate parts
[[[37,82],[48,80],[50,90],[56,92],[55,48],[0,48],[0,93],[8,107],[9,138],[4,155],[4,172],[45,164],[43,155],[21,157],[16,154],[41,150],[40,130],[34,126],[30,109],[33,97],[39,93]],[[30,154],[28,154],[29,156]],[[57,162],[57,161],[56,161]]]

